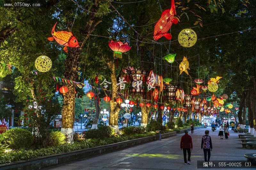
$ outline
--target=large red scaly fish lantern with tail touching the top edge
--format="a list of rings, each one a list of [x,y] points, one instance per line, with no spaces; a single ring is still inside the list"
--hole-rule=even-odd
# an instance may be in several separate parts
[[[174,18],[176,15],[174,0],[171,0],[171,9],[164,10],[161,18],[156,22],[154,29],[154,40],[158,40],[161,37],[165,37],[168,40],[172,39],[172,35],[168,33],[173,24],[178,23],[178,19]]]

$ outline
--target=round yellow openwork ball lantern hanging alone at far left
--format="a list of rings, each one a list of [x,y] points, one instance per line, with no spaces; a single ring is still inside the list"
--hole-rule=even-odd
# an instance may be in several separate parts
[[[40,72],[47,72],[52,68],[52,60],[46,55],[41,55],[35,61],[36,70]]]

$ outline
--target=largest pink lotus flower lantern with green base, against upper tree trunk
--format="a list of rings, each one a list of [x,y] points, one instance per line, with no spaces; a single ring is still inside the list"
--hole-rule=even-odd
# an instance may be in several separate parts
[[[132,47],[129,47],[128,43],[125,42],[123,44],[123,42],[121,41],[109,41],[108,42],[108,47],[112,49],[112,51],[114,51],[114,57],[116,58],[122,58],[122,53],[129,51]]]

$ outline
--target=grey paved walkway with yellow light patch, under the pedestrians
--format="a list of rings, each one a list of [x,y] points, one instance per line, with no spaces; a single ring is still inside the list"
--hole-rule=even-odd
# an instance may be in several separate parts
[[[210,128],[207,128],[210,130]],[[201,150],[201,140],[205,129],[194,130],[192,136],[194,149],[191,152],[191,165],[184,165],[183,152],[180,150],[180,138],[183,134],[137,145],[124,150],[106,153],[90,159],[70,162],[48,169],[78,170],[78,169],[109,169],[109,170],[165,170],[165,169],[196,169],[196,160],[204,160]],[[229,139],[220,139],[219,130],[210,131],[213,150],[211,160],[246,160],[245,153],[255,153],[255,150],[243,149],[238,133],[230,130]]]

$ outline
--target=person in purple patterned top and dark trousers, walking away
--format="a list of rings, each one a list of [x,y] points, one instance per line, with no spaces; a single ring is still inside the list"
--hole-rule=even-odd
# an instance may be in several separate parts
[[[201,149],[204,150],[204,161],[209,162],[212,151],[212,138],[209,136],[209,130],[205,130],[204,134],[205,135],[202,137]]]

